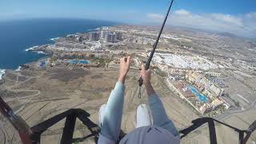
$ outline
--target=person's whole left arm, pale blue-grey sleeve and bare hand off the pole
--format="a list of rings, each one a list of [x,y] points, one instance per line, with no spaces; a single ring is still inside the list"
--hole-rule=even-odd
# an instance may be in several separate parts
[[[120,59],[118,82],[106,103],[106,110],[102,120],[101,134],[117,142],[121,130],[122,109],[125,94],[125,79],[130,68],[130,57]]]

